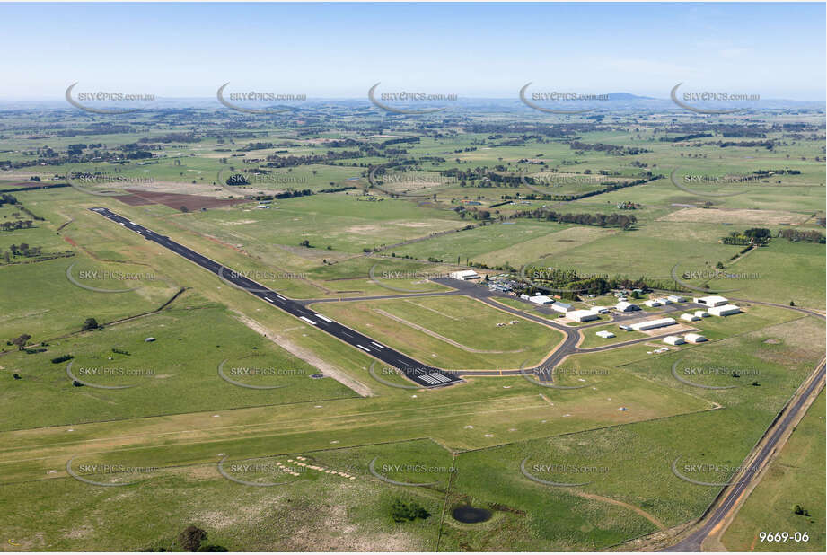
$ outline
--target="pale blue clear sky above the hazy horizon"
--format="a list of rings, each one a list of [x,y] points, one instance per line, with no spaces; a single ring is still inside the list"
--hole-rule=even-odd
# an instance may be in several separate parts
[[[0,99],[79,89],[823,100],[822,4],[0,4]]]

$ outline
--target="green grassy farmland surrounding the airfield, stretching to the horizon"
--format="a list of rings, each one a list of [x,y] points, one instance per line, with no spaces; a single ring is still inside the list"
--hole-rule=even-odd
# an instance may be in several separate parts
[[[717,471],[693,475],[697,480],[726,481],[823,357],[823,321],[755,301],[823,310],[824,245],[774,237],[733,261],[743,247],[719,242],[754,226],[773,235],[787,228],[823,233],[821,112],[710,118],[750,125],[763,119],[768,137],[777,140],[768,150],[660,141],[664,124],[697,123],[682,114],[619,114],[611,123],[530,114],[504,130],[514,122],[495,111],[445,126],[442,116],[414,121],[372,113],[362,121],[349,109],[319,110],[323,116],[298,127],[281,119],[237,127],[222,112],[199,111],[202,119],[186,133],[175,114],[137,115],[122,133],[101,133],[92,119],[70,115],[61,125],[82,134],[71,137],[49,131],[54,122],[43,114],[28,119],[0,113],[8,149],[0,157],[14,163],[31,162],[46,144],[60,153],[81,140],[114,149],[158,146],[149,163],[3,170],[0,189],[32,175],[58,182],[69,170],[95,167],[151,178],[163,190],[228,198],[251,189],[228,190],[219,172],[260,168],[272,173],[252,178],[256,188],[316,193],[274,199],[269,209],[248,198],[192,212],[128,206],[71,188],[13,193],[45,220],[32,229],[0,232],[0,249],[28,242],[72,256],[9,265],[0,260],[6,292],[0,295],[0,507],[10,515],[0,525],[3,550],[178,549],[176,535],[189,524],[206,530],[209,543],[231,550],[606,550],[701,515],[719,488],[677,477],[675,458],[717,465]],[[802,133],[782,127],[800,120],[813,125]],[[43,129],[31,130],[31,121]],[[549,122],[559,126],[549,128]],[[381,144],[399,137],[419,142]],[[577,150],[569,145],[575,137],[648,152]],[[291,156],[323,160],[279,167]],[[535,158],[544,163],[526,160]],[[365,174],[385,163],[421,174],[410,189],[424,186],[418,192],[427,192],[427,201],[376,190],[365,195]],[[676,167],[679,176],[782,168],[800,173],[777,173],[751,181],[743,195],[710,198],[675,187],[668,175]],[[436,179],[436,172],[448,170],[466,172],[466,182]],[[620,182],[645,172],[665,177],[565,202],[515,198],[537,191],[494,179],[540,170],[549,179],[583,178],[549,187],[555,194],[594,191],[588,176]],[[320,192],[349,186],[357,189]],[[389,187],[408,188],[406,181]],[[491,207],[506,196],[515,202]],[[637,206],[618,207],[626,201]],[[691,322],[710,339],[704,344],[655,353],[652,346],[663,344],[652,339],[567,357],[554,369],[554,385],[565,389],[519,375],[466,376],[445,389],[410,389],[399,376],[386,376],[390,384],[375,380],[369,368],[382,365],[374,358],[88,210],[97,206],[168,234],[288,297],[331,299],[312,309],[446,369],[534,366],[563,339],[549,326],[428,280],[471,263],[516,269],[537,264],[666,285],[673,268],[682,274],[720,265],[748,278],[685,281],[743,299],[736,303],[744,312]],[[635,216],[637,224],[623,231],[559,224],[532,213],[510,218],[542,207],[559,214],[622,213]],[[485,225],[483,210],[491,216]],[[0,222],[28,219],[18,212],[0,207]],[[474,227],[463,229],[469,225]],[[345,300],[405,292],[449,294]],[[614,301],[609,294],[576,305]],[[497,302],[540,314],[516,299]],[[659,310],[647,313],[654,317]],[[89,317],[106,325],[81,331]],[[597,338],[594,332],[603,329],[617,337]],[[22,333],[32,336],[28,352],[9,342]],[[617,323],[583,334],[581,348],[647,337],[619,330]],[[149,337],[154,341],[145,341]],[[87,385],[73,385],[69,361],[51,362],[63,355],[73,357],[70,370]],[[219,368],[236,383],[223,379]],[[327,377],[310,377],[320,372]],[[728,548],[767,548],[754,542],[756,531],[785,528],[810,532],[811,542],[796,548],[823,551],[824,489],[812,486],[813,480],[823,482],[823,403],[822,394],[747,500],[724,537]],[[223,457],[228,465],[259,465],[257,471],[231,471],[237,478],[287,483],[258,488],[225,480],[216,467]],[[97,487],[68,475],[70,459],[75,469],[109,464],[152,470],[138,474],[134,485]],[[380,477],[370,470],[372,461]],[[523,462],[535,478],[576,485],[530,480]],[[130,478],[97,471],[89,476]],[[397,500],[418,503],[427,518],[393,522]],[[802,524],[805,517],[792,514],[796,503],[814,522]],[[451,511],[464,504],[487,508],[491,519],[459,523]],[[796,549],[769,549],[782,547]]]

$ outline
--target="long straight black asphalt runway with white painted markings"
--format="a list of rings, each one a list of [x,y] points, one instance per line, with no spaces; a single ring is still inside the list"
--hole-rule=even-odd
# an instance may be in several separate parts
[[[262,286],[250,278],[244,277],[242,274],[233,271],[233,269],[226,268],[215,260],[210,260],[198,254],[198,252],[178,242],[172,241],[166,235],[155,233],[143,225],[132,222],[124,216],[119,216],[108,208],[96,207],[90,208],[90,210],[109,218],[112,222],[123,225],[129,231],[143,235],[146,240],[156,242],[164,248],[198,264],[198,266],[213,272],[225,282],[244,289],[251,293],[251,295],[256,295],[264,302],[294,315],[304,323],[329,333],[333,337],[348,343],[348,345],[364,351],[371,357],[378,358],[388,366],[398,368],[409,380],[422,387],[444,387],[445,385],[462,382],[462,378],[456,375],[444,372],[444,370],[435,368],[434,366],[424,365],[407,355],[403,355],[397,350],[387,347],[378,341],[374,341],[356,330],[351,330],[339,322],[330,320],[330,318],[322,316],[319,313],[314,313],[312,310],[307,309],[304,304],[297,303],[283,295],[279,295],[276,291],[268,289],[268,287]]]

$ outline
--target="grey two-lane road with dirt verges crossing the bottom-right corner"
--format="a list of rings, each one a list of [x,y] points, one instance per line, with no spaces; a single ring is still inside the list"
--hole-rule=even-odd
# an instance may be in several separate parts
[[[821,390],[824,380],[824,361],[816,367],[816,376],[807,383],[805,391],[802,392],[796,401],[787,406],[786,410],[782,412],[782,416],[776,420],[770,428],[766,441],[759,447],[758,452],[751,460],[749,466],[751,468],[763,468],[764,464],[768,462],[770,456],[784,445],[782,441],[789,427],[793,426],[796,421],[796,416],[805,405],[810,396]],[[742,498],[745,491],[752,485],[753,480],[760,480],[761,472],[743,472],[743,475],[735,481],[735,483],[726,487],[724,492],[719,496],[719,501],[715,507],[708,513],[706,519],[701,526],[683,538],[680,542],[675,543],[672,547],[662,551],[701,551],[703,542],[707,537],[716,531],[717,527],[723,524],[730,512],[737,509],[738,501]]]

